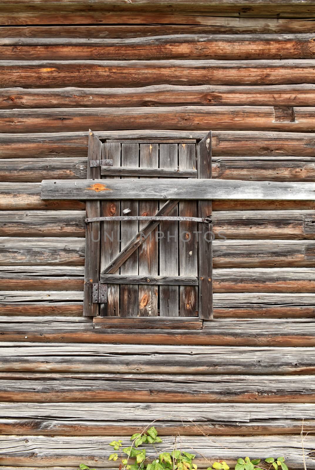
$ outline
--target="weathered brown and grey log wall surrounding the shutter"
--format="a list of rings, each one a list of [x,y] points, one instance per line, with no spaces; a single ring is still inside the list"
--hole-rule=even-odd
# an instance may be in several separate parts
[[[211,129],[213,178],[314,182],[314,17],[311,0],[0,0],[1,470],[118,467],[107,443],[153,419],[200,467],[303,468],[315,202],[214,201],[214,321],[140,330],[82,316],[85,204],[40,182],[86,178],[89,128]]]

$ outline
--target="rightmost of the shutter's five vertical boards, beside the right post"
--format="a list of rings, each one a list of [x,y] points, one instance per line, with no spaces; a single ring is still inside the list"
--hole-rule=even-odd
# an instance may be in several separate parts
[[[180,170],[191,170],[196,166],[196,145],[178,145],[178,166]],[[196,201],[181,201],[179,215],[197,217]],[[199,225],[199,224],[198,224]],[[196,222],[179,222],[179,275],[198,276],[198,235]],[[180,286],[179,315],[182,317],[198,316],[198,287]]]

